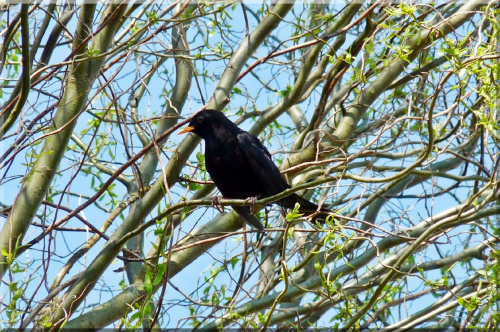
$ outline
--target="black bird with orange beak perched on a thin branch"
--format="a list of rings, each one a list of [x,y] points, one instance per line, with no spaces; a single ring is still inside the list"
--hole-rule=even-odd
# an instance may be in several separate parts
[[[205,140],[205,164],[215,185],[225,198],[265,198],[290,188],[262,142],[215,110],[198,112],[188,127],[179,134],[193,132]],[[320,211],[315,220],[326,219],[328,210],[291,194],[276,202],[283,208],[293,209],[300,204],[301,213]],[[252,214],[249,206],[233,206],[247,224],[259,231],[264,226]]]

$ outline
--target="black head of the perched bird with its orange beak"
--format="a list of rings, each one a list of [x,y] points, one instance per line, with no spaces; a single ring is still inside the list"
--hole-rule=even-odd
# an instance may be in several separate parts
[[[230,130],[232,127],[236,127],[236,125],[224,113],[215,110],[203,110],[196,113],[189,125],[179,131],[178,135],[191,132],[203,139],[207,139],[219,128]]]

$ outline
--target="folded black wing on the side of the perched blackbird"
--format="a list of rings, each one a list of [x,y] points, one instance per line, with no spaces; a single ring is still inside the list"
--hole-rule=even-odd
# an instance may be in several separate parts
[[[265,188],[264,196],[273,196],[290,188],[271,159],[271,154],[257,137],[246,131],[241,132],[238,134],[238,145]]]

